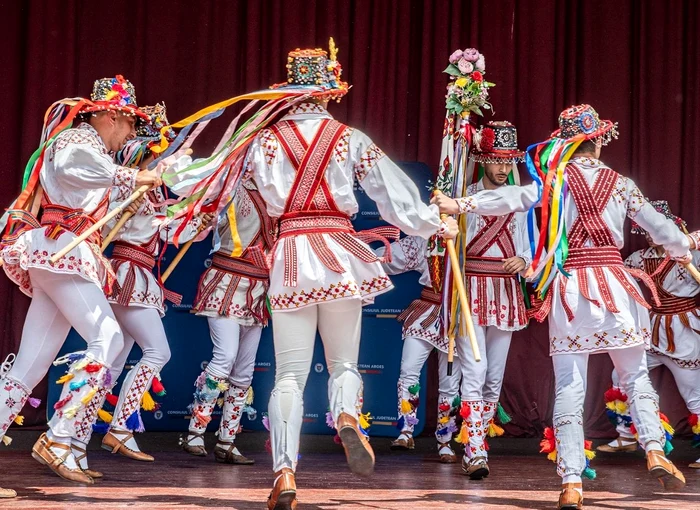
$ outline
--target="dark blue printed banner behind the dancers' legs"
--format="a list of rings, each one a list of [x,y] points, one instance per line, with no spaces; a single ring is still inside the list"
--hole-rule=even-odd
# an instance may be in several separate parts
[[[402,163],[400,166],[411,176],[421,189],[424,201],[429,199],[428,180],[432,173],[422,163]],[[384,224],[379,216],[376,204],[369,199],[361,187],[356,186],[355,194],[360,205],[359,213],[353,218],[357,230],[377,227]],[[210,236],[211,237],[211,236]],[[168,280],[168,288],[183,295],[179,306],[168,303],[169,309],[163,319],[165,332],[168,336],[172,358],[161,372],[163,385],[167,394],[155,397],[159,406],[155,412],[143,412],[142,418],[146,430],[184,431],[187,429],[189,412],[187,406],[192,402],[194,381],[211,358],[212,346],[209,337],[207,321],[196,317],[190,310],[194,300],[199,277],[211,263],[211,240],[195,243],[178,265],[173,276]],[[174,247],[169,247],[163,268],[175,256]],[[401,364],[401,325],[396,316],[401,313],[420,294],[418,273],[408,273],[392,277],[395,289],[379,296],[375,303],[363,309],[362,344],[360,348],[359,370],[364,380],[363,412],[371,413],[373,423],[370,435],[395,436],[397,405],[396,383]],[[85,342],[74,331],[66,341],[61,355],[80,351],[85,348]],[[134,347],[129,355],[124,373],[140,358],[141,351]],[[65,371],[65,365],[52,367],[50,381],[57,380]],[[124,374],[120,377],[120,382]],[[246,429],[262,430],[262,416],[267,412],[267,401],[274,386],[275,357],[272,346],[272,328],[265,328],[260,341],[253,377],[255,400],[253,407],[256,413],[243,416],[242,425]],[[425,370],[421,373],[420,399],[425,402]],[[310,434],[334,433],[326,425],[325,414],[328,410],[328,372],[323,354],[323,346],[317,338],[311,373],[304,393],[304,426],[302,432]],[[60,395],[60,386],[49,385],[49,414],[53,412],[53,404]],[[114,389],[118,394],[119,386]],[[108,406],[108,410],[111,408]],[[218,427],[221,415],[217,408],[214,419],[209,425],[209,431],[214,432]],[[425,410],[418,410],[420,420],[415,434],[420,434],[424,425]]]

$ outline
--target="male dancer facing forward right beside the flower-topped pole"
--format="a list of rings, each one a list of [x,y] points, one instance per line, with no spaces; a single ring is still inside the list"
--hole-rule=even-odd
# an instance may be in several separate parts
[[[505,186],[509,176],[519,182],[516,164],[523,160],[515,126],[489,122],[474,137],[472,159],[483,167],[483,178],[467,188],[467,195]],[[509,417],[498,403],[513,331],[527,326],[523,291],[518,274],[530,265],[530,242],[525,213],[503,216],[467,216],[465,276],[474,332],[482,360],[463,352],[466,339],[457,342],[462,368],[462,471],[472,480],[489,475],[486,436],[503,434],[496,426]]]

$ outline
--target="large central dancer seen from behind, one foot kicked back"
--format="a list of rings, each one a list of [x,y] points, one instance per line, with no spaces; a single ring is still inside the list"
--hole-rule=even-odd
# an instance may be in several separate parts
[[[441,222],[437,208],[422,204],[415,185],[379,147],[326,110],[328,100],[348,90],[333,45],[330,58],[318,49],[291,52],[287,69],[286,85],[309,86],[316,100],[294,106],[261,131],[247,155],[268,214],[280,221],[268,293],[277,369],[268,408],[276,473],[270,509],[296,508],[303,392],[317,330],[330,374],[330,412],[350,468],[364,475],[374,469],[374,454],[358,425],[361,313],[363,301],[392,286],[366,242],[386,243],[385,236],[398,231],[353,230],[354,182],[377,202],[382,218],[407,234],[456,234],[456,222]]]

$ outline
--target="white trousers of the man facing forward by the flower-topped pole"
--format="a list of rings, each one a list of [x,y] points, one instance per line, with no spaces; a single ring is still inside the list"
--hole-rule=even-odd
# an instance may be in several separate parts
[[[513,332],[475,324],[474,333],[481,361],[474,360],[468,339],[460,338],[456,343],[462,367],[462,400],[498,402]]]

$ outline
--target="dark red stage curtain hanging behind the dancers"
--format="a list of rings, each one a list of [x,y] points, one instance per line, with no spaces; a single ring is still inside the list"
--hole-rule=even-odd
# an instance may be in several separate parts
[[[333,36],[353,88],[332,113],[392,158],[437,167],[442,70],[453,50],[473,46],[486,55],[487,77],[497,84],[493,118],[515,123],[521,146],[547,137],[563,108],[591,103],[620,123],[620,139],[602,159],[651,198],[667,199],[691,227],[700,226],[695,0],[3,0],[0,20],[2,206],[19,191],[46,108],[89,94],[96,78],[125,75],[141,104],[165,101],[177,120],[283,81],[287,51],[327,47]],[[0,295],[4,359],[19,345],[29,300],[4,275]],[[511,434],[537,435],[551,419],[547,351],[546,325],[513,339],[502,399],[514,417]],[[591,361],[591,437],[611,433],[602,405],[610,370],[607,356]],[[678,423],[685,406],[670,374],[656,372],[662,407]],[[28,422],[40,419],[26,412]]]

